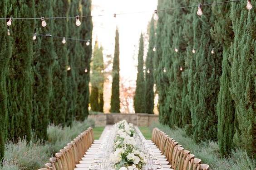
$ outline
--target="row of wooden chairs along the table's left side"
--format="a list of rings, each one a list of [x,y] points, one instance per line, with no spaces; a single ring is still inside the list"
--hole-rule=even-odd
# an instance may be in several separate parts
[[[89,149],[93,142],[93,128],[89,127],[67,146],[59,150],[55,157],[50,158],[49,163],[45,164],[45,168],[39,170],[74,170],[76,164],[79,164],[85,151]]]

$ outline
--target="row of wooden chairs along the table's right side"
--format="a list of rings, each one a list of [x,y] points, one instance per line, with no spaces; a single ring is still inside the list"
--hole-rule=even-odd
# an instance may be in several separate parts
[[[161,155],[166,156],[173,170],[209,170],[209,165],[202,164],[200,159],[158,128],[153,129],[152,143],[160,149]]]

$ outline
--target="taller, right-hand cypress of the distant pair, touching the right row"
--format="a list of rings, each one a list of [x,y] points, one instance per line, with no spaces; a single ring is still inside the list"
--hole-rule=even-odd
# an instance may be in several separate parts
[[[146,59],[146,76],[145,76],[145,113],[153,114],[154,109],[154,77],[153,77],[153,48],[155,45],[155,28],[154,28],[154,20],[151,19],[151,23],[149,25],[150,33],[149,33],[149,45],[148,45],[148,55]]]

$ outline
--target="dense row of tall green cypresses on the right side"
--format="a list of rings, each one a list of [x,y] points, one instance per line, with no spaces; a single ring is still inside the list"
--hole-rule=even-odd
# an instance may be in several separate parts
[[[159,0],[158,9],[197,3]],[[186,127],[196,142],[218,141],[222,156],[235,146],[255,153],[255,8],[241,1],[202,10],[159,12],[150,43],[160,121]]]

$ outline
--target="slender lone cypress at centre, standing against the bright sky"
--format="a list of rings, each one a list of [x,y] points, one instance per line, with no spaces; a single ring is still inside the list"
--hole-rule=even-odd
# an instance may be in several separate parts
[[[115,37],[115,53],[113,61],[113,70],[112,70],[112,93],[111,93],[111,113],[120,113],[120,92],[119,92],[119,33],[118,28],[116,29]]]

